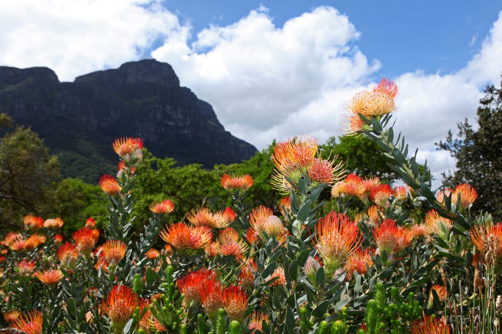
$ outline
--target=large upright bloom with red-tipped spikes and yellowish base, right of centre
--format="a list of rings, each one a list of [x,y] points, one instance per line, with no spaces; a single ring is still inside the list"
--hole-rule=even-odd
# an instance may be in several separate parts
[[[314,243],[329,278],[362,242],[358,232],[357,224],[343,213],[333,211],[319,219]]]

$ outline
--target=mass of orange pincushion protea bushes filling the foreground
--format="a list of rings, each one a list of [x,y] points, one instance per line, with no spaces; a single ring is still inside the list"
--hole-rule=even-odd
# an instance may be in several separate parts
[[[118,173],[99,181],[103,230],[89,218],[65,241],[62,219],[27,215],[23,231],[4,236],[7,332],[498,332],[502,224],[470,215],[468,184],[431,189],[427,164],[388,127],[397,93],[384,79],[356,94],[346,128],[378,143],[402,185],[346,175],[301,136],[274,148],[280,212],[246,205],[252,176],[224,174],[232,208],[194,208],[175,222],[173,202],[156,201],[132,234],[143,142],[117,139]],[[319,217],[329,187],[336,210]]]

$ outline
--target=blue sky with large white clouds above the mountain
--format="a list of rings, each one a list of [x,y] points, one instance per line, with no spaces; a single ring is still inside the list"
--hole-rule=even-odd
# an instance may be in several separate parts
[[[144,58],[171,64],[226,130],[259,149],[341,135],[344,103],[395,80],[395,130],[439,178],[455,161],[434,143],[464,118],[475,123],[483,88],[499,87],[502,3],[0,2],[0,65],[46,66],[72,81]]]

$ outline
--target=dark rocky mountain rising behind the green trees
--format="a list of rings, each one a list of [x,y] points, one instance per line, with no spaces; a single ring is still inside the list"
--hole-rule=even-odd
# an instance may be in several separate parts
[[[0,112],[29,125],[59,157],[64,176],[94,182],[112,172],[117,137],[141,137],[181,165],[239,162],[256,148],[225,131],[213,108],[154,59],[59,82],[51,69],[0,67]]]

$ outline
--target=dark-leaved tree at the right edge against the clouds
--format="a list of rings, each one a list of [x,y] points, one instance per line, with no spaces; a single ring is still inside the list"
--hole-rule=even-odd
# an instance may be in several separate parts
[[[467,119],[451,130],[439,150],[447,150],[456,159],[456,171],[443,174],[446,183],[469,183],[478,193],[472,210],[488,211],[496,220],[502,218],[502,89],[487,86],[477,109],[478,129]]]

